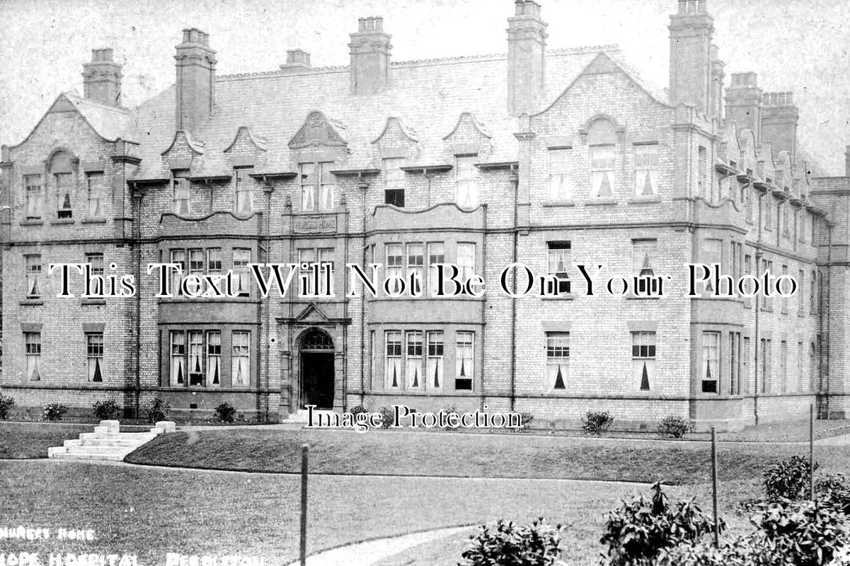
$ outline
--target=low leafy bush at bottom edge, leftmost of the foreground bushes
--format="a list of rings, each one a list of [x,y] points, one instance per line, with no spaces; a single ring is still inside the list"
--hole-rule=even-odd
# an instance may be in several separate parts
[[[470,535],[462,566],[552,566],[561,554],[562,531],[543,518],[525,527],[501,520],[493,530],[482,526]]]

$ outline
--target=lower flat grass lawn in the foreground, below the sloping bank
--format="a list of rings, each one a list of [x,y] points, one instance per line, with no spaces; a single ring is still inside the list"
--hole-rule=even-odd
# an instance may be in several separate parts
[[[528,523],[542,515],[570,525],[565,558],[587,565],[597,563],[602,551],[602,513],[623,497],[648,493],[638,485],[555,480],[314,476],[309,481],[309,552],[497,518]],[[297,476],[6,461],[0,486],[0,524],[87,527],[97,537],[77,544],[6,541],[5,552],[135,552],[144,566],[164,563],[169,551],[261,556],[269,566],[297,558]],[[700,495],[703,507],[710,507],[700,489],[668,492],[672,498]],[[449,566],[460,558],[455,550],[457,544],[462,550],[462,537],[446,544],[434,546],[447,553],[430,566]]]

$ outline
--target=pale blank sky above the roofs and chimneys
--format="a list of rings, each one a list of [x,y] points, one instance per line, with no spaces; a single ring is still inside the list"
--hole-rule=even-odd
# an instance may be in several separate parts
[[[793,91],[801,142],[821,173],[844,173],[850,144],[850,3],[707,0],[728,74],[756,71],[766,91]],[[676,0],[539,0],[548,48],[618,44],[644,79],[668,82]],[[17,144],[56,96],[82,93],[82,64],[111,47],[125,105],[174,82],[184,27],[210,34],[217,72],[273,71],[286,49],[314,66],[348,65],[357,18],[381,15],[395,61],[507,51],[513,0],[0,0],[0,144]],[[566,85],[564,85],[566,87]]]

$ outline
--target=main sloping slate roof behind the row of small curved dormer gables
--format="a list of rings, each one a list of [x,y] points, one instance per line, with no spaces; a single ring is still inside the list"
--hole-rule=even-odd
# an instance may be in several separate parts
[[[616,46],[550,50],[547,52],[547,107],[600,53],[621,63]],[[471,112],[492,135],[489,161],[514,161],[516,117],[507,112],[507,56],[504,54],[427,59],[393,63],[391,88],[369,95],[349,91],[348,67],[326,67],[293,73],[273,71],[217,76],[215,109],[193,137],[205,145],[201,173],[227,169],[224,149],[239,127],[266,140],[267,170],[291,168],[288,143],[312,110],[322,111],[346,129],[350,152],[339,168],[380,167],[372,142],[389,117],[399,118],[416,133],[422,147],[417,161],[445,160],[443,139],[462,112]],[[657,99],[663,94],[653,92]],[[161,152],[174,137],[174,87],[133,110],[141,146],[139,178],[161,176]]]

